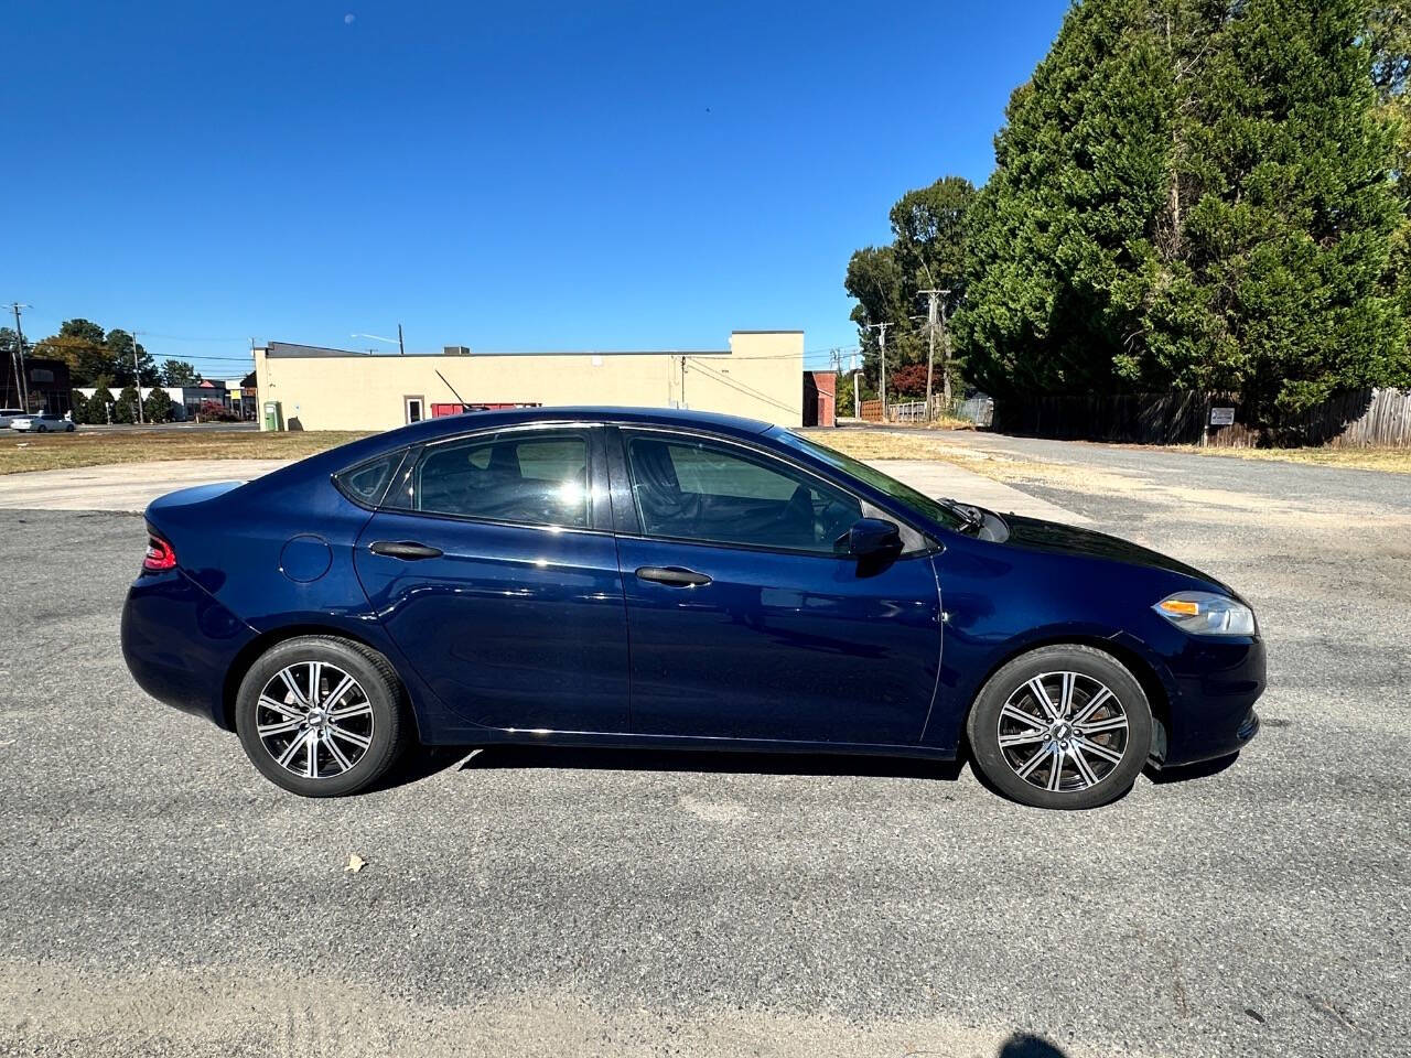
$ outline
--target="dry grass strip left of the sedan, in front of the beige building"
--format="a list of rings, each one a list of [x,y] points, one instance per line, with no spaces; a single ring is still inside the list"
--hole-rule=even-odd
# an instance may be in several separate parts
[[[143,430],[121,433],[0,433],[0,474],[66,470],[154,460],[298,460],[367,433],[319,430],[260,433],[220,430]]]

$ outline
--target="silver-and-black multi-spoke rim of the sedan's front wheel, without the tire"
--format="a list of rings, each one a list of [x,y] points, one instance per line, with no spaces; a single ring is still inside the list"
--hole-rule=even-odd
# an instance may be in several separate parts
[[[999,711],[999,752],[1010,770],[1050,793],[1089,790],[1127,752],[1127,712],[1120,698],[1086,673],[1038,673]]]

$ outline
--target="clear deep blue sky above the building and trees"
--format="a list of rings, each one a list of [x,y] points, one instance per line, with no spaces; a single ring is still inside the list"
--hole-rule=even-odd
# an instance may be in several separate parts
[[[906,189],[985,179],[1065,8],[20,0],[0,300],[212,375],[398,322],[412,350],[849,346],[848,255]]]

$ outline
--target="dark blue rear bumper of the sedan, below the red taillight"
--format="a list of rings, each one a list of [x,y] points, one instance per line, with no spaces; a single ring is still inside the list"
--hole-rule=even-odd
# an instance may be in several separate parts
[[[186,574],[138,577],[123,607],[123,659],[161,703],[229,726],[224,683],[255,632]]]

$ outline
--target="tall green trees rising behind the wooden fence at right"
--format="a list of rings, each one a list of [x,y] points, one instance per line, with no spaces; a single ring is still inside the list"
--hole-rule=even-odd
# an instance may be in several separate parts
[[[1398,4],[1075,4],[988,182],[907,192],[852,255],[868,385],[886,322],[916,388],[928,288],[952,377],[996,398],[1198,389],[1277,422],[1411,385],[1408,56]]]

